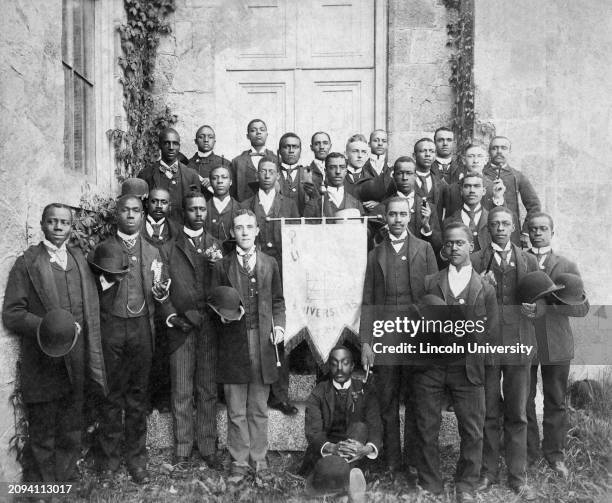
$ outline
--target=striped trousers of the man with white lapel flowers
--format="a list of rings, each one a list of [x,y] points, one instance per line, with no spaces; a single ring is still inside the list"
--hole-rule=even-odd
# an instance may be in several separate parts
[[[190,456],[194,440],[202,456],[215,452],[216,358],[216,336],[208,321],[201,328],[192,330],[183,345],[170,355],[170,401],[177,456]]]

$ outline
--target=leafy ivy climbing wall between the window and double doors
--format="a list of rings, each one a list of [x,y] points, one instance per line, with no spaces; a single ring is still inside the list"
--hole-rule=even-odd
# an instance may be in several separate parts
[[[174,12],[175,0],[124,0],[123,5],[126,22],[118,27],[123,50],[118,63],[127,131],[108,131],[120,182],[157,158],[157,134],[177,121],[168,108],[155,116],[152,93],[157,48],[161,36],[171,31],[166,18]]]

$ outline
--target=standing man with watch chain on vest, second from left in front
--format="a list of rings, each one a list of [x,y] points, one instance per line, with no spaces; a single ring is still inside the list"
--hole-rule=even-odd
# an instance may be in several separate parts
[[[154,301],[168,298],[169,283],[159,251],[140,235],[140,199],[121,197],[116,211],[117,234],[98,245],[116,256],[126,272],[122,277],[98,276],[109,393],[100,407],[96,464],[105,477],[112,477],[119,468],[123,446],[128,471],[141,484],[149,480],[147,389],[155,344]]]

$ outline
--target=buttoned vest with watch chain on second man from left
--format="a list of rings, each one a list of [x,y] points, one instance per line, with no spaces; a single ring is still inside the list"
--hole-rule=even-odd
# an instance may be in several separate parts
[[[119,282],[117,294],[111,307],[111,314],[118,318],[148,316],[149,311],[142,284],[142,247],[140,237],[136,239],[136,244],[131,250],[128,250],[123,241],[121,243],[127,253],[130,269]]]

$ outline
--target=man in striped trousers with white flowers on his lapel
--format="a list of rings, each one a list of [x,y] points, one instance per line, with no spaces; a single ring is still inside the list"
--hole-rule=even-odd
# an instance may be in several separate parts
[[[172,280],[170,299],[163,311],[168,325],[175,464],[188,461],[195,437],[202,459],[210,468],[219,469],[221,465],[216,455],[217,347],[206,300],[212,266],[222,257],[221,242],[204,231],[206,199],[202,193],[185,195],[183,213],[183,231],[161,250]]]

